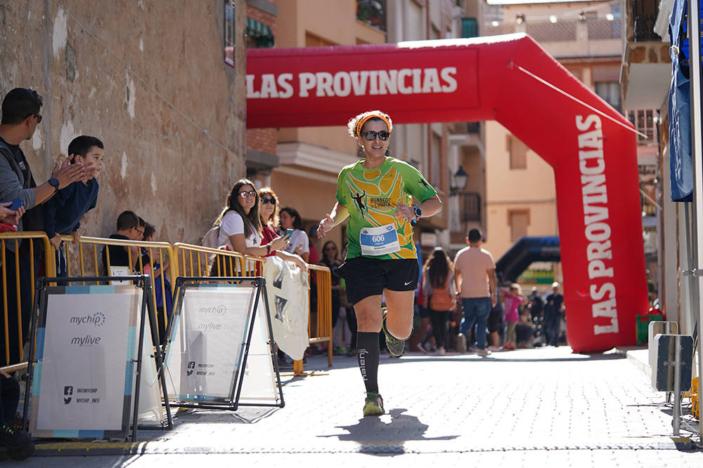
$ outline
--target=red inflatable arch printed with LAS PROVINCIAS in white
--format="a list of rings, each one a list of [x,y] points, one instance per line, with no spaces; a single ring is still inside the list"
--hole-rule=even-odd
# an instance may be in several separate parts
[[[621,114],[524,34],[247,51],[247,128],[344,125],[370,108],[396,123],[496,120],[550,163],[569,345],[636,342],[647,282],[636,140]]]

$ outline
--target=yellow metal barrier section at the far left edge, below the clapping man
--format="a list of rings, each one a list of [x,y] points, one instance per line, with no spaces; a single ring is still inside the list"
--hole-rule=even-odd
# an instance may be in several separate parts
[[[19,345],[19,356],[20,360],[22,359],[22,348],[23,348],[23,343],[25,342],[25,337],[22,336],[22,294],[20,294],[20,256],[19,255],[11,255],[8,253],[8,247],[12,247],[15,252],[20,251],[20,241],[25,241],[29,242],[29,258],[34,258],[35,255],[38,255],[41,253],[41,250],[43,248],[44,252],[50,252],[53,250],[51,248],[51,243],[49,243],[49,238],[46,236],[45,232],[41,231],[23,231],[23,232],[2,232],[0,233],[0,248],[1,248],[1,253],[0,253],[0,262],[1,262],[1,281],[2,281],[2,311],[3,311],[3,328],[0,331],[0,333],[3,333],[4,337],[4,352],[5,352],[5,361],[4,363],[0,363],[0,365],[4,364],[9,364],[10,363],[10,328],[9,328],[9,318],[10,314],[17,314],[17,323],[18,323],[18,345]],[[37,243],[41,243],[41,246],[37,246]],[[26,247],[25,247],[26,248]],[[8,266],[8,261],[11,261],[11,258],[13,258],[14,262],[14,269],[15,269],[15,278],[13,280],[8,278],[8,272],[7,272],[7,266]],[[41,260],[44,260],[43,262]],[[39,271],[36,271],[34,268],[34,262],[30,262],[30,279],[31,279],[31,284],[30,284],[30,290],[31,290],[31,295],[29,297],[25,297],[25,300],[30,300],[30,310],[32,310],[32,307],[34,307],[34,285],[36,283],[37,277],[38,276],[53,276],[56,274],[56,269],[54,269],[54,263],[53,263],[53,255],[44,255],[43,258],[41,258],[41,255],[39,257]],[[43,270],[43,271],[42,271]],[[11,281],[11,284],[8,287],[8,281]],[[8,305],[8,295],[14,295],[17,300],[17,304],[15,307],[15,310],[9,310],[10,307]],[[13,363],[14,364],[14,363]]]

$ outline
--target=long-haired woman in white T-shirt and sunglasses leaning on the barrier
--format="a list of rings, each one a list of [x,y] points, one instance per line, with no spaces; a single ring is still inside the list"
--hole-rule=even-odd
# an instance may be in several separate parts
[[[307,270],[307,264],[301,258],[283,251],[288,246],[288,239],[278,237],[262,245],[259,194],[254,189],[254,183],[251,180],[238,180],[232,187],[227,199],[227,206],[222,209],[222,213],[215,220],[215,225],[218,224],[220,226],[218,239],[220,245],[229,246],[235,252],[257,257],[264,257],[264,255],[276,250],[276,256],[295,262],[303,271]]]

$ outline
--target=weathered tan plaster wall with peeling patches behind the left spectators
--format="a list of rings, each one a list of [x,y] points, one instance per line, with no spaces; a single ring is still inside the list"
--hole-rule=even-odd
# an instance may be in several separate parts
[[[0,3],[0,94],[32,87],[44,119],[22,144],[38,183],[77,135],[105,143],[84,236],[122,210],[157,240],[197,242],[245,173],[245,5],[236,67],[224,63],[224,0]]]

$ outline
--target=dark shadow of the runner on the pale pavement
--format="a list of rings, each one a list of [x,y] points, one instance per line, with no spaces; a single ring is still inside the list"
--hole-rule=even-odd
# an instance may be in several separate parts
[[[389,411],[391,422],[382,417],[362,417],[359,424],[337,426],[349,434],[330,434],[320,437],[339,437],[340,441],[352,441],[361,446],[359,452],[370,455],[397,455],[405,453],[406,441],[450,441],[458,436],[425,437],[430,427],[420,422],[418,417],[404,414],[405,408]]]

